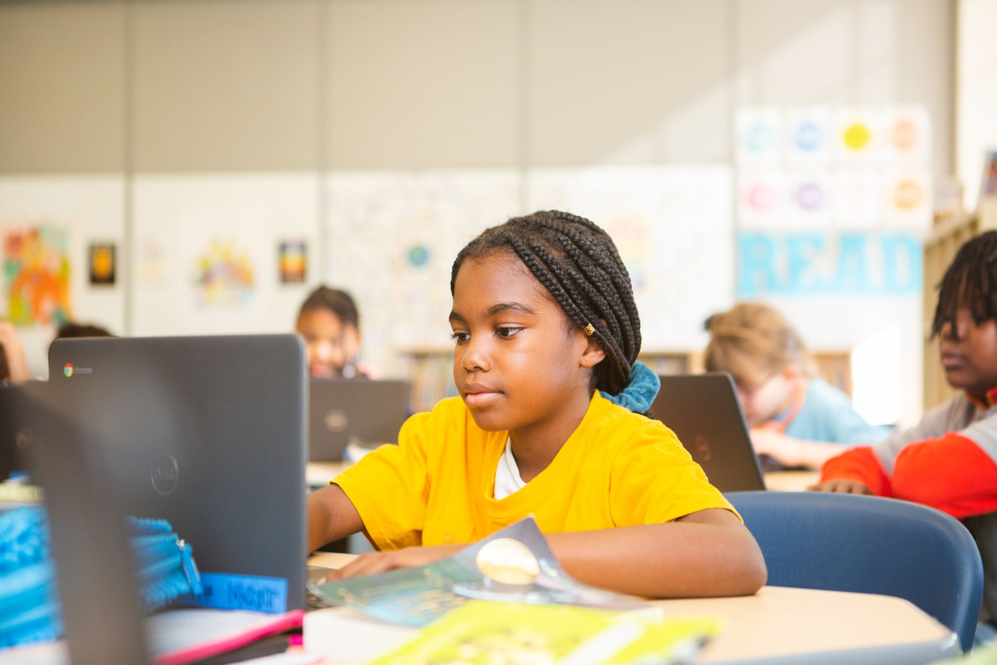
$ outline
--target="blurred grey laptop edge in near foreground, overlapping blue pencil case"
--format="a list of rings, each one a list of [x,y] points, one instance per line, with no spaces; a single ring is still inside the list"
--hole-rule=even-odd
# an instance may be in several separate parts
[[[18,386],[17,392],[26,406],[18,411],[19,465],[30,468],[45,490],[65,656],[73,665],[145,665],[146,625],[107,459],[99,446],[84,444],[92,437],[82,435],[45,383]],[[43,653],[53,657],[39,662],[64,660],[58,652]]]

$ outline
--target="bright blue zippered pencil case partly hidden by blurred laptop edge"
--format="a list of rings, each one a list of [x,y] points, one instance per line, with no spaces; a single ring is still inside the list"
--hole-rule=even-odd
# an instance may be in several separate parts
[[[163,519],[126,518],[139,602],[147,612],[203,587],[190,545]],[[49,529],[42,508],[0,514],[0,649],[62,634]]]

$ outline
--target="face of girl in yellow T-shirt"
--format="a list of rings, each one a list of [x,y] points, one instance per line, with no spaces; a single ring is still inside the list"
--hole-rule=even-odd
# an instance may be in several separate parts
[[[450,324],[454,382],[483,429],[554,423],[566,404],[591,397],[591,367],[605,354],[516,257],[461,266]]]

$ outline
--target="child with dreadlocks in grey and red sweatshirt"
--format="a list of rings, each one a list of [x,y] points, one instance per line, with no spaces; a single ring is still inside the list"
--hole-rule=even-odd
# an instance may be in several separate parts
[[[997,231],[955,255],[931,333],[945,378],[962,393],[906,431],[831,458],[814,489],[893,496],[965,520],[983,554],[984,604],[997,617]]]

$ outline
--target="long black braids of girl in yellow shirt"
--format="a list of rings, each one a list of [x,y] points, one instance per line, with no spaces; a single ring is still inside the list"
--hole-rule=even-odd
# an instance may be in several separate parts
[[[630,384],[640,351],[640,317],[630,275],[605,231],[577,215],[542,211],[487,229],[454,261],[450,293],[469,259],[508,252],[518,257],[560,306],[572,326],[591,326],[606,357],[595,365],[593,386],[618,394]]]

